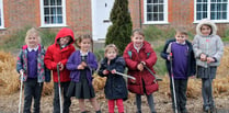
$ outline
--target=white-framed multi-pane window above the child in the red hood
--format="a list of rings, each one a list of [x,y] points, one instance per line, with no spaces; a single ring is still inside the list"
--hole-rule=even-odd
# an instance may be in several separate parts
[[[65,0],[41,0],[42,26],[66,26]]]

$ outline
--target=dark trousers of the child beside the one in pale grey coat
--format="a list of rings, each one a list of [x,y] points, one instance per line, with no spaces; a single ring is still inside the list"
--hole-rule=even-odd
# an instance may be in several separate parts
[[[186,90],[187,90],[187,79],[174,79],[174,87],[175,87],[175,98],[176,98],[176,108],[179,113],[186,112]],[[174,95],[173,95],[173,87],[172,87],[172,79],[170,79],[170,90],[172,93],[172,108],[175,110],[174,104]]]

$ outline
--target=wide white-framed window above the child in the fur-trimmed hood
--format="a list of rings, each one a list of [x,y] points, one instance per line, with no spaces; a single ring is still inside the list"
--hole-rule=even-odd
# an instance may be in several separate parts
[[[204,18],[215,22],[229,22],[228,0],[196,0],[195,21]]]

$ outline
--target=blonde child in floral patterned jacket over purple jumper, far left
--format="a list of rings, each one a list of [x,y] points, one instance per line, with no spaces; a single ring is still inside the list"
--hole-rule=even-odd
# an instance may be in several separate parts
[[[43,83],[50,81],[50,71],[44,65],[45,49],[34,27],[27,31],[25,44],[22,46],[16,63],[16,70],[23,75],[21,79],[24,81],[23,113],[31,113],[32,99],[34,99],[33,113],[39,113]]]

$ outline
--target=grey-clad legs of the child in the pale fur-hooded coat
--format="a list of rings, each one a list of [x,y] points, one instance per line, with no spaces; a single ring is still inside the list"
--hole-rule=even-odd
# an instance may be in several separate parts
[[[213,99],[213,79],[203,78],[202,79],[202,95],[204,100],[204,106],[214,108],[214,99]]]

